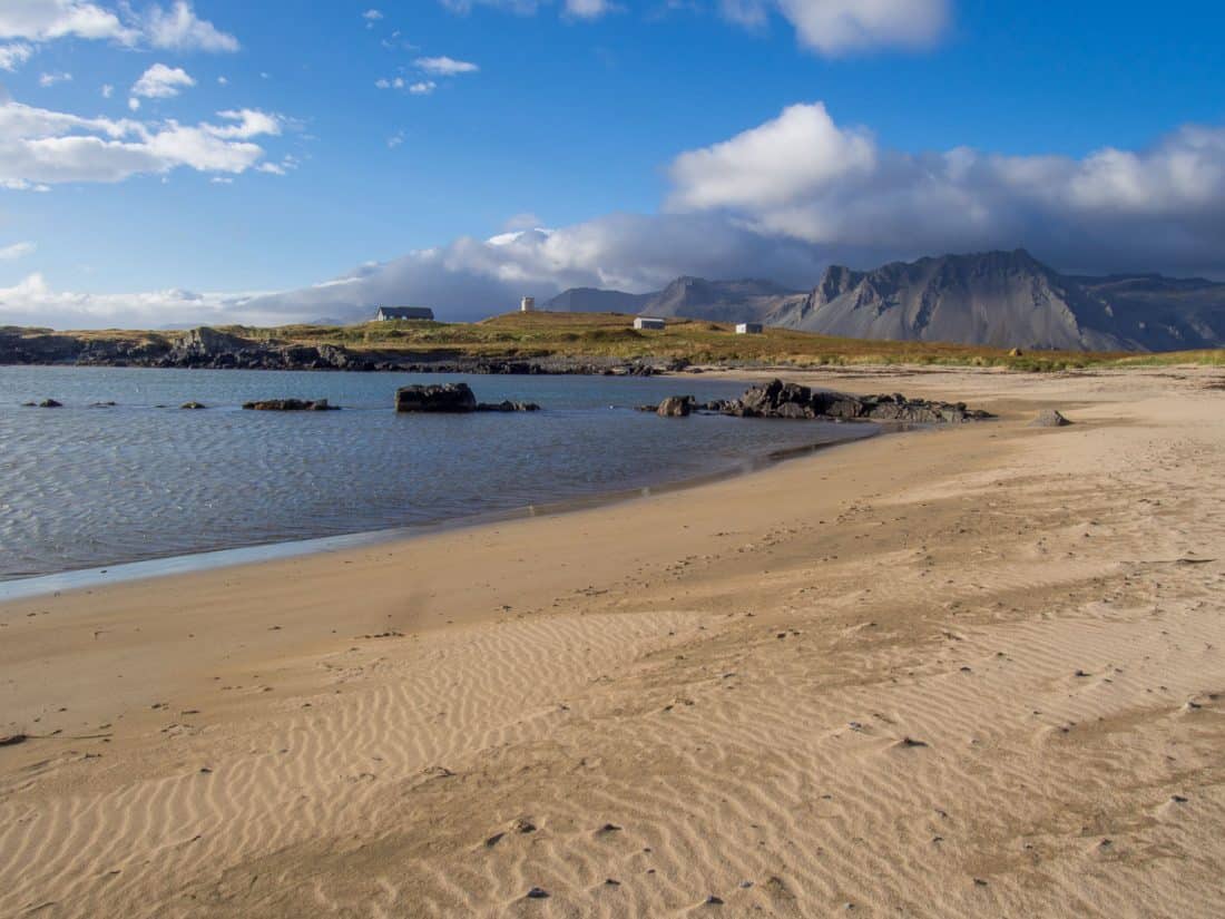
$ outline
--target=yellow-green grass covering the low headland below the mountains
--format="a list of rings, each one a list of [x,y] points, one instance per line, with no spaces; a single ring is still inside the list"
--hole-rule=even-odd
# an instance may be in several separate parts
[[[881,342],[834,338],[767,328],[763,335],[735,335],[726,322],[669,320],[663,331],[638,331],[633,317],[611,312],[510,312],[480,322],[392,321],[355,326],[225,326],[218,331],[278,344],[338,344],[403,360],[456,357],[540,358],[611,357],[684,358],[693,364],[774,366],[854,366],[916,364],[998,366],[1023,371],[1080,368],[1225,365],[1225,349],[1163,354],[1024,352],[926,342]],[[173,341],[176,332],[75,332],[82,338]]]

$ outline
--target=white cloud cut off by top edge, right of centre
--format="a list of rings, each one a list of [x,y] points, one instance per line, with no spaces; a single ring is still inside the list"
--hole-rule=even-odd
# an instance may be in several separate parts
[[[832,56],[927,47],[948,25],[949,0],[720,0],[720,10],[725,18],[750,27],[782,16],[802,45]]]

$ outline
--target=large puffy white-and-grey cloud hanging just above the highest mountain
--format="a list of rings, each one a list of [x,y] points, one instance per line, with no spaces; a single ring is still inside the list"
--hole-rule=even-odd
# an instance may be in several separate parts
[[[720,211],[816,245],[925,252],[1062,236],[1073,248],[1094,238],[1126,248],[1131,227],[1137,241],[1160,248],[1152,235],[1170,222],[1159,236],[1208,257],[1225,236],[1221,127],[1187,126],[1147,151],[1107,147],[1083,159],[964,147],[907,153],[838,127],[817,103],[682,153],[670,174],[673,211]],[[1107,246],[1098,245],[1100,256]]]

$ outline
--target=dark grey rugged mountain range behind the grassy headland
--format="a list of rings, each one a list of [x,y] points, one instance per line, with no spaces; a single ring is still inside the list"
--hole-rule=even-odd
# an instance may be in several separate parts
[[[561,309],[552,304],[571,293],[546,309]],[[687,277],[654,294],[589,293],[609,297],[568,301],[621,303],[626,311],[659,316],[763,321],[849,338],[1068,350],[1225,346],[1225,284],[1160,274],[1066,276],[1023,249],[892,262],[872,271],[832,266],[807,294],[764,281]]]

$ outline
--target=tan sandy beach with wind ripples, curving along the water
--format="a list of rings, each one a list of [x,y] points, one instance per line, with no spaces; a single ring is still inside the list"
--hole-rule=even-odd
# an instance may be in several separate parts
[[[1220,371],[788,379],[998,418],[0,605],[0,915],[1221,915]]]

